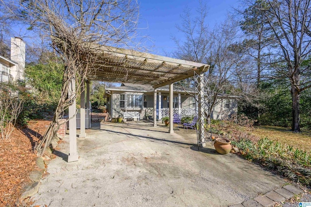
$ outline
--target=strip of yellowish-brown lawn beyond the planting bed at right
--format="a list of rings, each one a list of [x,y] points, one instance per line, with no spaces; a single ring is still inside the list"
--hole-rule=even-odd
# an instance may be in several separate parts
[[[252,134],[260,138],[269,138],[294,148],[311,151],[311,131],[302,130],[302,133],[293,133],[290,128],[277,126],[255,126]]]

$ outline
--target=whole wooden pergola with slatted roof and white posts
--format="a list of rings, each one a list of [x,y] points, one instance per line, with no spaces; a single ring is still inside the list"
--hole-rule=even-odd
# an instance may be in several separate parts
[[[169,85],[170,87],[170,128],[169,133],[173,133],[173,83],[192,77],[194,72],[200,74],[203,80],[203,73],[209,69],[209,65],[196,63],[181,59],[175,59],[145,52],[120,49],[108,46],[98,46],[94,50],[96,63],[91,69],[89,79],[105,82],[126,82],[153,85],[154,88],[154,118],[156,117],[156,96],[157,88]],[[199,85],[201,83],[199,82]],[[75,92],[75,84],[71,84],[71,92]],[[85,107],[89,108],[89,82],[86,81],[86,94],[84,85],[81,88],[81,124],[79,137],[86,137],[85,132]],[[70,93],[69,93],[70,95]],[[199,94],[199,103],[201,102]],[[86,98],[86,100],[85,100]],[[202,98],[203,100],[203,98]],[[199,104],[200,114],[203,114]],[[76,146],[76,104],[69,106],[69,157],[68,162],[78,160]],[[204,118],[199,130],[204,130]],[[156,126],[156,119],[154,119]],[[200,138],[202,139],[202,138]],[[204,142],[204,141],[202,141]],[[202,144],[204,145],[204,144]]]

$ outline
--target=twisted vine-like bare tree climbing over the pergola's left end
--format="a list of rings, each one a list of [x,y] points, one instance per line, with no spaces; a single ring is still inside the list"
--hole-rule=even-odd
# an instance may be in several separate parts
[[[53,120],[35,149],[44,154],[59,128],[62,112],[79,96],[69,95],[70,81],[76,88],[86,79],[100,58],[98,45],[130,46],[136,36],[138,3],[136,0],[1,0],[9,14],[29,24],[34,32],[46,34],[46,40],[62,58],[65,72],[62,94]]]

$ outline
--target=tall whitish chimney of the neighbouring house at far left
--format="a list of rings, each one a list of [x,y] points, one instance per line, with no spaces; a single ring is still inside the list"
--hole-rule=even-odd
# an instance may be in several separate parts
[[[13,81],[24,80],[25,46],[21,38],[11,37],[11,60],[17,62],[17,65],[10,69]]]

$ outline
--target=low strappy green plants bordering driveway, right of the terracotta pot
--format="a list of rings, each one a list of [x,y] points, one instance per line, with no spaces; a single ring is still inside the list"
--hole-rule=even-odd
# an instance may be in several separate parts
[[[262,138],[257,144],[250,139],[232,141],[241,150],[247,160],[257,162],[294,182],[311,187],[311,156],[310,153],[284,146],[268,138]]]

